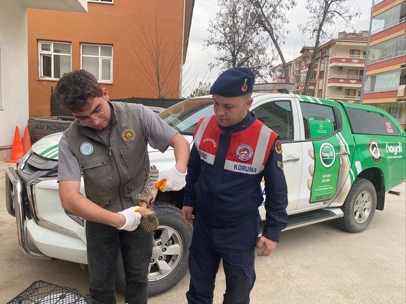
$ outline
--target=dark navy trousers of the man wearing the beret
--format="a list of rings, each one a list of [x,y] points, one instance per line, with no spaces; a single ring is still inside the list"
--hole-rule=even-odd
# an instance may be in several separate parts
[[[220,259],[226,281],[223,304],[249,303],[254,287],[259,218],[229,227],[212,227],[196,214],[189,254],[189,304],[213,303]]]

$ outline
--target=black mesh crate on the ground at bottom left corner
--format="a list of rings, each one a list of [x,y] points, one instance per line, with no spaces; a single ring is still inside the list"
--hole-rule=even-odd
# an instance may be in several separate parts
[[[7,304],[101,304],[76,289],[36,281]]]

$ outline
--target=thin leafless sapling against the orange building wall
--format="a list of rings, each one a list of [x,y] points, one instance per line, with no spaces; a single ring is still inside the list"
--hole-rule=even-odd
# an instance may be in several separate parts
[[[159,33],[156,16],[155,26],[148,30],[141,19],[139,22],[140,31],[134,31],[136,46],[131,44],[130,52],[122,44],[128,54],[126,59],[130,61],[128,66],[134,73],[142,74],[141,81],[147,88],[153,88],[152,93],[157,98],[179,97],[180,74],[174,73],[181,69],[181,44],[175,48],[168,47],[173,42],[171,37],[163,37]]]

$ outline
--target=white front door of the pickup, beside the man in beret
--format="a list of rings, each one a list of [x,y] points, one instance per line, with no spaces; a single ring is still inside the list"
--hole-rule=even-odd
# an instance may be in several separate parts
[[[288,185],[289,204],[287,211],[294,211],[299,200],[299,185],[302,170],[299,116],[295,98],[267,98],[251,107],[251,112],[267,127],[279,134],[282,141],[283,171]],[[264,181],[262,181],[262,191]],[[263,192],[264,199],[265,193]],[[259,208],[261,217],[265,218],[263,203]]]

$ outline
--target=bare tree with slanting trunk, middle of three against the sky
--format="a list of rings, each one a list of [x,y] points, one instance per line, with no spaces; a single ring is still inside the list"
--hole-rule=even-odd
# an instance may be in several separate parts
[[[296,1],[246,0],[246,2],[253,6],[252,16],[254,22],[268,33],[274,43],[285,71],[285,80],[286,82],[290,82],[289,71],[281,50],[281,45],[285,44],[285,37],[288,34],[288,30],[285,29],[285,24],[289,23],[289,19],[286,18],[284,12],[293,8],[296,5]]]

